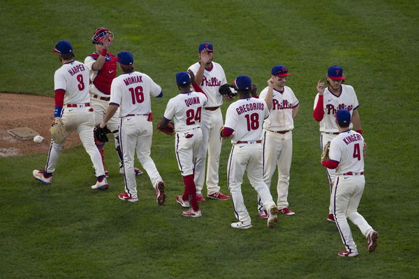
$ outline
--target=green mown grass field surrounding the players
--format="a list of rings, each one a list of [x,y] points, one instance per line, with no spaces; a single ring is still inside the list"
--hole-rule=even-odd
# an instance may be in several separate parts
[[[162,133],[152,147],[167,186],[160,207],[147,175],[137,179],[140,202],[117,198],[124,182],[112,143],[110,189],[100,193],[89,187],[82,146],[63,151],[51,186],[31,174],[45,153],[0,158],[0,278],[419,278],[418,1],[1,1],[0,25],[1,92],[53,96],[54,45],[70,40],[83,61],[94,29],[105,26],[115,33],[111,51],[131,51],[136,69],[162,86],[154,121],[178,92],[175,73],[197,61],[204,41],[214,43],[229,81],[246,74],[259,90],[272,66],[288,66],[287,85],[300,100],[288,198],[296,215],[279,216],[274,229],[257,218],[247,180],[251,229],[230,227],[230,201],[205,202],[202,218],[182,218],[174,140]],[[336,255],[340,236],[325,220],[328,183],[311,116],[316,82],[334,64],[360,102],[368,151],[359,212],[379,234],[369,254],[352,226],[360,252],[353,259]],[[229,151],[223,142],[225,193]]]

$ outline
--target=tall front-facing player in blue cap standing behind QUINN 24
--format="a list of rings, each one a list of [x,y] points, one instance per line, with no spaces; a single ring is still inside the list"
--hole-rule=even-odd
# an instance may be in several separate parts
[[[212,43],[201,43],[198,47],[200,61],[189,67],[189,71],[195,75],[193,87],[195,91],[204,92],[208,97],[208,103],[203,107],[201,130],[203,141],[196,157],[195,184],[198,202],[205,202],[202,195],[205,181],[205,159],[208,151],[207,165],[207,197],[210,199],[229,199],[228,195],[220,192],[219,186],[219,161],[221,153],[221,137],[219,130],[223,125],[221,105],[223,97],[219,93],[219,87],[226,84],[226,74],[219,63],[212,61]],[[198,87],[198,88],[196,88]]]

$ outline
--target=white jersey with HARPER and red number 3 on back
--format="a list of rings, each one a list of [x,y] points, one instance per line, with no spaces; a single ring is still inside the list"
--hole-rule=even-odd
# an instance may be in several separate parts
[[[54,90],[63,89],[64,105],[89,103],[89,71],[83,63],[71,61],[57,69],[54,74]]]

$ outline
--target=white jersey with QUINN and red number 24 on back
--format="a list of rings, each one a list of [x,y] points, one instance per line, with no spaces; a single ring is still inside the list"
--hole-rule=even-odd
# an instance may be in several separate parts
[[[179,93],[169,100],[163,116],[173,119],[176,132],[200,127],[201,112],[207,100],[207,96],[200,92]]]

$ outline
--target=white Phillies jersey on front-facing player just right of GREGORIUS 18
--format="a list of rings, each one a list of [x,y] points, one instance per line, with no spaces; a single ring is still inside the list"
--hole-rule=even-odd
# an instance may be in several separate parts
[[[260,99],[265,100],[268,89],[269,87],[265,87],[260,92]],[[293,108],[297,107],[298,104],[298,100],[290,87],[284,86],[284,92],[282,93],[273,89],[272,108],[269,117],[263,123],[263,128],[271,131],[293,130]]]

